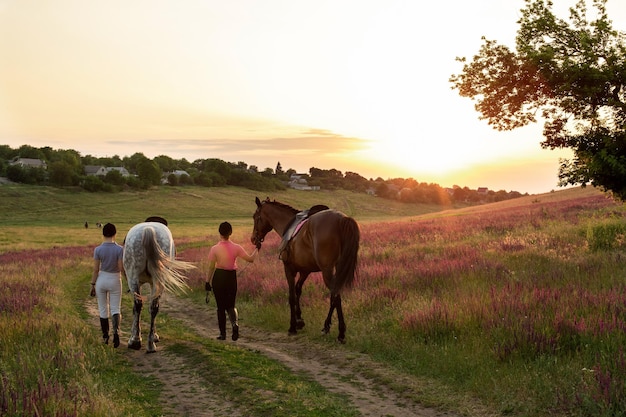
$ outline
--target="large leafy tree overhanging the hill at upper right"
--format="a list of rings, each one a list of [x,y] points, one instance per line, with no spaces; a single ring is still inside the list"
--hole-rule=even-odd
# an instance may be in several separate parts
[[[621,1],[621,0],[616,0]],[[569,148],[560,185],[592,184],[626,200],[626,37],[612,28],[607,0],[580,0],[569,19],[549,0],[526,0],[516,51],[483,45],[450,82],[476,100],[480,119],[511,130],[543,119],[543,148]]]

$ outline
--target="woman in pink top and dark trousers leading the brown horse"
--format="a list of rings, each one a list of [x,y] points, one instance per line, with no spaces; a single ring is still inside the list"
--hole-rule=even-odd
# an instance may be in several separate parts
[[[255,249],[251,255],[237,243],[231,242],[233,227],[228,222],[220,224],[220,241],[209,251],[207,291],[213,290],[217,304],[217,323],[220,329],[219,340],[226,339],[226,313],[233,328],[232,339],[239,338],[239,323],[235,299],[237,298],[237,258],[254,262],[258,254]]]

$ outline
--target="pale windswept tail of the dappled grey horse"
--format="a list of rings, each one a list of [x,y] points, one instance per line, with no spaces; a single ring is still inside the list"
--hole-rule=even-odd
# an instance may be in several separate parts
[[[184,272],[195,268],[193,264],[177,260],[161,249],[152,227],[143,230],[142,244],[146,253],[146,269],[153,281],[170,292],[189,289]]]

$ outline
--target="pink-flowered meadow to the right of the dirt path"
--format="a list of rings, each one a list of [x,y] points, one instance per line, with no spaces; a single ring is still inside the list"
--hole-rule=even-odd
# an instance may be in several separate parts
[[[362,224],[359,280],[344,296],[348,347],[502,413],[623,413],[624,216],[592,196]],[[278,243],[268,235],[260,261],[244,267],[239,303],[248,321],[286,331]],[[313,338],[327,303],[314,274],[302,298]]]

